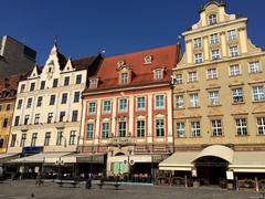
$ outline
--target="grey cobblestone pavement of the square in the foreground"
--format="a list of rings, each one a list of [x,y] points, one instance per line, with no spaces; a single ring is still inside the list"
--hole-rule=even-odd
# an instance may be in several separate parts
[[[180,188],[121,185],[120,190],[114,187],[85,189],[84,184],[76,188],[59,187],[54,182],[35,186],[33,181],[4,181],[0,184],[0,199],[258,199],[254,191],[229,191],[219,188]]]

